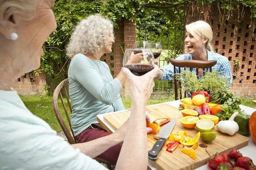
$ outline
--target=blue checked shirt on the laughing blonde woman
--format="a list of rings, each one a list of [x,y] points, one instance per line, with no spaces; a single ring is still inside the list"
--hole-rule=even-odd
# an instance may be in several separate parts
[[[214,53],[210,51],[207,51],[207,55],[208,55],[208,61],[210,60],[217,61],[217,63],[212,67],[212,70],[216,72],[221,72],[220,76],[225,76],[226,79],[229,80],[228,86],[230,86],[232,83],[232,71],[231,71],[231,66],[228,59],[218,53]],[[183,54],[175,59],[176,60],[193,60],[193,56],[191,54]],[[171,63],[161,67],[160,69],[163,70],[163,76],[160,79],[160,81],[171,80],[173,78],[174,71],[173,71],[173,65]],[[184,69],[181,69],[181,70],[184,70]],[[176,67],[176,72],[178,72],[178,67]],[[192,69],[192,72],[194,72],[195,74],[196,73],[195,69]]]

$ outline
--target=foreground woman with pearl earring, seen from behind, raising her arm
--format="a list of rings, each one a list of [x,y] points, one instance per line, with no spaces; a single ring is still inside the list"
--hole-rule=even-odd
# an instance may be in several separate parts
[[[56,28],[54,0],[0,0],[0,169],[106,169],[92,158],[123,141],[117,169],[147,168],[145,105],[152,92],[155,68],[131,82],[129,120],[114,133],[70,145],[24,105],[12,84],[40,67],[42,45]],[[132,152],[130,152],[132,150]]]

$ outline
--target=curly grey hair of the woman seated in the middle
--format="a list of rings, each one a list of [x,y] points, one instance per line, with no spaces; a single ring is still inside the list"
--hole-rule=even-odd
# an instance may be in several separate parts
[[[107,45],[109,34],[114,39],[112,21],[100,14],[90,15],[75,27],[66,48],[67,55],[72,58],[78,53],[96,54]]]

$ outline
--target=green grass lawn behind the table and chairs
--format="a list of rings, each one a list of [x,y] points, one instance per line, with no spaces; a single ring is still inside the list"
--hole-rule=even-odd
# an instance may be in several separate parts
[[[26,95],[21,96],[21,98],[24,104],[33,114],[44,119],[55,131],[62,131],[61,126],[57,122],[55,113],[53,112],[51,96]],[[149,99],[147,105],[169,102],[172,100],[173,98],[168,95],[151,96],[151,99]],[[242,99],[242,105],[248,107],[255,107],[255,105],[251,102],[252,100],[256,99]],[[131,107],[130,98],[123,99],[123,103],[126,109],[129,109]],[[62,108],[61,111],[64,113]]]

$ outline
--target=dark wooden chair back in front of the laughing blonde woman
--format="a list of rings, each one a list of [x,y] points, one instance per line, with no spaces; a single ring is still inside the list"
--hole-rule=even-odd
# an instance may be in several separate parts
[[[181,73],[181,68],[184,68],[186,70],[189,68],[190,71],[192,71],[192,68],[196,68],[196,76],[199,79],[199,68],[203,69],[202,74],[205,73],[205,68],[209,68],[210,72],[212,71],[212,66],[216,64],[216,60],[211,61],[201,61],[201,60],[175,60],[170,59],[170,63],[173,65],[174,70],[174,76],[173,76],[173,82],[174,82],[174,90],[175,90],[175,100],[182,99],[182,86],[181,81],[178,81],[176,78],[176,73]],[[178,72],[176,72],[176,67],[178,67]],[[179,87],[179,88],[178,88]],[[179,91],[179,96],[178,96]],[[184,92],[184,97],[186,98],[186,91]]]

